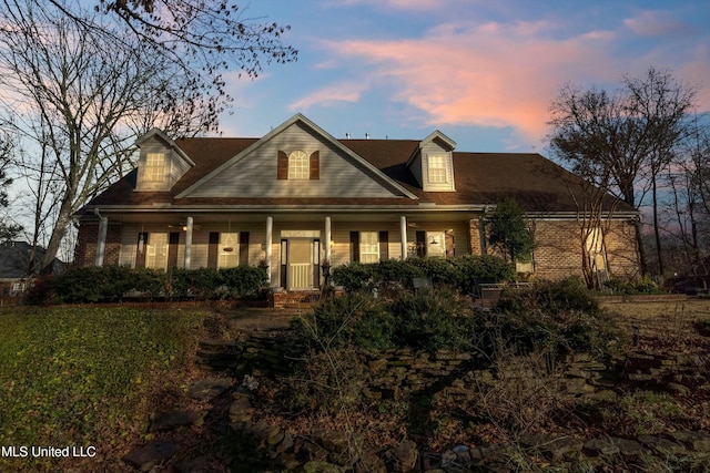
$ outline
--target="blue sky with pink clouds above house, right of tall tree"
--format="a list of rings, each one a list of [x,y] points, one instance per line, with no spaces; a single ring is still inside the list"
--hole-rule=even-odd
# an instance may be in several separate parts
[[[290,24],[298,60],[229,74],[223,136],[258,137],[302,113],[336,138],[422,140],[546,154],[565,84],[615,91],[653,66],[710,111],[710,1],[256,0]]]

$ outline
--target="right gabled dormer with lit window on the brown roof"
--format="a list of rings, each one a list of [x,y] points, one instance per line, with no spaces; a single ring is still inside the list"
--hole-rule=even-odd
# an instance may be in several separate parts
[[[407,167],[426,192],[454,192],[454,148],[456,143],[438,130],[419,143]]]

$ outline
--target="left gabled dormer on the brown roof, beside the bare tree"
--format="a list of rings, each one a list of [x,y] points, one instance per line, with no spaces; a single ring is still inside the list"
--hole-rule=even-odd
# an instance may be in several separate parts
[[[195,163],[165,133],[153,128],[136,142],[140,148],[135,191],[166,192]]]

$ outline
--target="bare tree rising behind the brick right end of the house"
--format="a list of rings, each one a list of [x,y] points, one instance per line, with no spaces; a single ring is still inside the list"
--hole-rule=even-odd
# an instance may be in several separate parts
[[[643,79],[625,79],[613,94],[566,85],[550,106],[550,147],[575,174],[595,184],[608,176],[609,191],[633,208],[649,192],[657,205],[658,176],[682,140],[693,96],[653,68]],[[641,273],[648,274],[640,223],[636,237]]]

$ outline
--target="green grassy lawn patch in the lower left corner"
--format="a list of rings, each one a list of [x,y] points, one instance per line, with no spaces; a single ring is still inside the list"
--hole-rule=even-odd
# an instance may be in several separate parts
[[[0,312],[0,445],[93,445],[106,455],[134,440],[151,392],[194,353],[203,317],[123,308]],[[0,457],[0,471],[50,470],[47,462]]]

